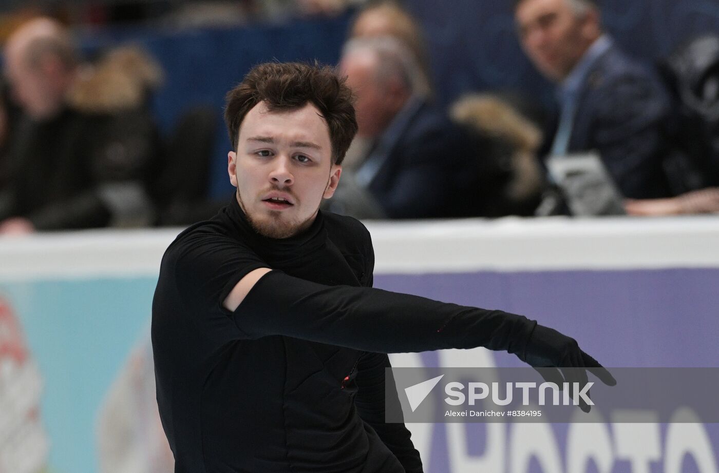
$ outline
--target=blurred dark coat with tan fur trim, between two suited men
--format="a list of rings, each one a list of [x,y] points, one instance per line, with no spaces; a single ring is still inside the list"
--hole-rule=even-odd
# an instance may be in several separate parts
[[[539,128],[495,95],[464,96],[450,116],[477,134],[475,215],[533,215],[544,184],[536,158]]]

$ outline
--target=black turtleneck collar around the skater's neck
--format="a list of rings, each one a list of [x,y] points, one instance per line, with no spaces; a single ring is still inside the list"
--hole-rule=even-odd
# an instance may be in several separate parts
[[[309,228],[290,238],[269,238],[257,233],[239,206],[237,194],[232,195],[232,202],[223,213],[229,220],[227,223],[233,230],[233,236],[249,245],[267,263],[290,263],[295,266],[326,245],[327,231],[321,211],[317,212]]]

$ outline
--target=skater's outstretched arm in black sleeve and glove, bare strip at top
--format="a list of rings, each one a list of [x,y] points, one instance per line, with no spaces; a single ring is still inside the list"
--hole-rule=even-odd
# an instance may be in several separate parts
[[[224,306],[248,338],[282,334],[383,353],[486,347],[513,353],[533,367],[562,368],[541,372],[554,382],[587,383],[590,370],[615,384],[574,339],[521,315],[381,289],[324,286],[269,268],[245,278]]]

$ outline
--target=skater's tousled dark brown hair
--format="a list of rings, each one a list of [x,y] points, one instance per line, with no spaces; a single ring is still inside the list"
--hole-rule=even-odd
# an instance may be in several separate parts
[[[312,103],[329,128],[332,161],[342,164],[357,133],[352,90],[334,68],[303,62],[266,62],[247,72],[242,83],[226,95],[225,123],[237,150],[239,126],[247,112],[264,102],[269,110],[301,108]]]

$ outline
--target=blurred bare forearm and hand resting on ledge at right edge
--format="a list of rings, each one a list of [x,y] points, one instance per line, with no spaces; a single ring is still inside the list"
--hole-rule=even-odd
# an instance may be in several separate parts
[[[682,215],[719,212],[719,187],[700,189],[667,199],[628,200],[629,215]]]

